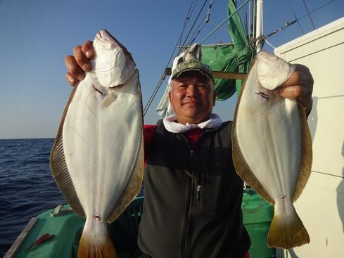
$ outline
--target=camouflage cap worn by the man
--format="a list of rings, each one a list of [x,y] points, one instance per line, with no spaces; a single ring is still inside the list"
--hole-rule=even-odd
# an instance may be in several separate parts
[[[212,69],[209,65],[202,63],[201,60],[201,51],[199,44],[193,44],[189,51],[179,59],[177,67],[172,71],[171,79],[179,77],[183,72],[188,71],[198,71],[202,75],[205,75],[214,82],[214,75],[212,74]]]

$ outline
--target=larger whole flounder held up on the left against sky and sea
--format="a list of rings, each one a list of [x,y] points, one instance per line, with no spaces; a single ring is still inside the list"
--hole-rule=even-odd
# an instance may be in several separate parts
[[[51,171],[72,209],[86,217],[78,257],[116,257],[106,222],[141,189],[143,115],[139,71],[106,30],[92,70],[70,94],[51,151]]]

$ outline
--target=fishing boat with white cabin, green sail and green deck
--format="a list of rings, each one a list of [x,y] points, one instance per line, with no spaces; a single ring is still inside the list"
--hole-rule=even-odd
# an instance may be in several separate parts
[[[234,6],[234,8],[237,10],[239,7]],[[235,13],[233,9],[229,11],[229,16]],[[235,27],[237,29],[240,25],[236,23]],[[207,52],[222,52],[222,56],[226,56],[234,50],[240,55],[240,58],[235,56],[234,59],[241,60],[241,63],[227,65],[231,63],[229,59],[222,67],[212,67],[215,72],[218,72],[216,75],[217,91],[220,92],[218,97],[223,100],[240,91],[243,77],[250,67],[250,60],[260,49],[261,43],[253,40],[260,38],[259,30],[255,30],[250,38],[246,33],[238,30],[236,30],[236,35],[234,35],[234,30],[231,33],[234,43],[203,45],[203,53],[205,53],[203,58],[208,58],[208,63],[212,63],[210,62],[212,55],[208,55]],[[344,250],[341,244],[344,241],[344,175],[343,165],[340,164],[343,164],[343,130],[336,129],[344,128],[343,120],[339,118],[343,117],[340,112],[344,109],[344,92],[340,77],[337,76],[340,73],[338,67],[341,67],[344,58],[343,33],[344,18],[275,49],[276,55],[293,63],[300,61],[310,67],[315,79],[314,106],[308,120],[314,141],[315,162],[305,193],[298,202],[295,202],[295,207],[310,232],[311,243],[292,250],[267,247],[267,233],[273,207],[252,188],[246,188],[241,208],[243,223],[252,240],[249,250],[252,258],[342,256]],[[184,46],[181,46],[181,49],[183,48]],[[322,58],[324,65],[321,67],[319,62],[314,62],[314,58]],[[170,70],[166,69],[163,77],[168,76]],[[337,73],[334,73],[336,71]],[[332,79],[331,88],[324,90],[323,86],[327,85],[329,78]],[[328,100],[332,101],[331,104],[326,102]],[[321,110],[319,110],[320,107]],[[145,112],[148,108],[145,108]],[[166,112],[165,103],[161,102],[158,110]],[[329,113],[335,115],[329,116]],[[326,160],[322,158],[324,156]],[[109,225],[110,235],[120,258],[139,257],[141,254],[136,238],[143,202],[144,197],[136,198],[120,218]],[[314,216],[314,214],[319,216]],[[56,209],[50,209],[32,218],[5,257],[76,257],[83,225],[84,219],[78,217],[69,205],[59,205]],[[25,250],[46,233],[53,235],[53,238],[30,250]]]

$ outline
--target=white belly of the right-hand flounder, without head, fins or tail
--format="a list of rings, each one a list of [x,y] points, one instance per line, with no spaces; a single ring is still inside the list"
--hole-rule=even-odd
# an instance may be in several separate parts
[[[291,198],[300,165],[298,104],[278,91],[262,96],[254,71],[246,85],[236,118],[243,157],[272,199]]]

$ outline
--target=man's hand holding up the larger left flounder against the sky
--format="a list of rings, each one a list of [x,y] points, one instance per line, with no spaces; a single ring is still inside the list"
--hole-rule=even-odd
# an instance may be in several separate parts
[[[91,41],[85,41],[82,46],[75,46],[74,56],[65,57],[65,66],[68,73],[65,75],[68,84],[77,85],[85,77],[85,72],[91,70],[90,60],[94,58],[94,49]]]

